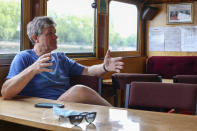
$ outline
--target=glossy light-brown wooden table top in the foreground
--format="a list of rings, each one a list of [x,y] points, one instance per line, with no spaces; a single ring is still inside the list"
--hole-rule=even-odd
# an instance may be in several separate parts
[[[58,120],[52,109],[36,108],[38,102],[56,102],[41,98],[21,98],[2,100],[0,98],[0,119],[26,126],[48,130],[125,130],[125,131],[196,131],[197,116],[140,111],[132,109],[104,107],[97,105],[64,103],[65,109],[76,111],[96,111],[93,124],[83,120],[73,127],[68,120]]]

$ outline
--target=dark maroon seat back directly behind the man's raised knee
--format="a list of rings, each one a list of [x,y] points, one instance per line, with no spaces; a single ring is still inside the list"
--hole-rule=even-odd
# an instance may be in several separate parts
[[[87,76],[87,75],[71,76],[70,77],[70,85],[74,86],[77,84],[82,84],[82,85],[88,86],[88,87],[94,89],[96,92],[98,92],[101,95],[101,90],[102,90],[101,77]]]

